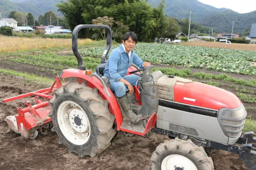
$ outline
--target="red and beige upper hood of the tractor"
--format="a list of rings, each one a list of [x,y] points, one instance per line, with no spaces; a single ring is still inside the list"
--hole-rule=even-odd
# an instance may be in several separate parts
[[[175,76],[162,76],[157,81],[159,99],[219,110],[237,108],[239,98],[224,89]]]

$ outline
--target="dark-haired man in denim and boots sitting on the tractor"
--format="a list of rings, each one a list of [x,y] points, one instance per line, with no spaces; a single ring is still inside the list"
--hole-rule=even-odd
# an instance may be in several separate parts
[[[127,32],[122,38],[120,47],[114,49],[107,60],[107,66],[104,69],[104,76],[109,78],[111,90],[115,91],[118,101],[124,110],[125,114],[132,123],[137,123],[141,115],[136,115],[131,108],[128,97],[125,93],[126,87],[129,93],[134,93],[133,86],[140,78],[137,75],[127,75],[128,68],[134,63],[139,68],[145,68],[150,65],[149,62],[143,62],[132,49],[137,43],[137,35],[134,32]]]

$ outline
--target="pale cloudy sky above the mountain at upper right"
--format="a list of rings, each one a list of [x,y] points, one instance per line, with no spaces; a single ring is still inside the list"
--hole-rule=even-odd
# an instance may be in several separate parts
[[[247,13],[256,10],[256,0],[198,0],[217,8],[225,7],[239,13]]]

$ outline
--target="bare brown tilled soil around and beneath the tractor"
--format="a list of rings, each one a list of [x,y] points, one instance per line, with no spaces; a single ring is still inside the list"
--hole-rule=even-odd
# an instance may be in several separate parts
[[[24,94],[45,87],[29,84],[24,79],[0,74],[0,99]],[[0,170],[150,170],[150,158],[155,148],[168,136],[152,133],[149,137],[126,136],[118,132],[112,145],[94,158],[80,158],[59,145],[56,133],[39,134],[34,140],[25,139],[13,131],[8,132],[4,118],[17,113],[26,100],[0,103]],[[209,154],[215,170],[244,170],[238,155],[217,151]]]

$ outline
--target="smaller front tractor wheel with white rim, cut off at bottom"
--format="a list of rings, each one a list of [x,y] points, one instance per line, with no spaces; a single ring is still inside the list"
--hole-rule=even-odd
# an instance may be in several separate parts
[[[152,170],[214,170],[211,157],[190,139],[160,143],[152,154]]]

